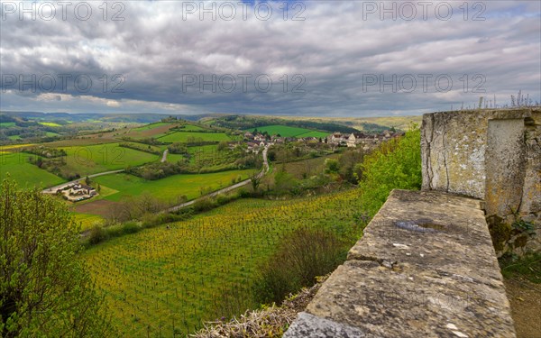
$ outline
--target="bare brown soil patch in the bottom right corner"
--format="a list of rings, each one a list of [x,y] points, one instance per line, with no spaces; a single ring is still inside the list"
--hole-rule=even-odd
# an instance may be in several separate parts
[[[504,280],[518,338],[541,338],[541,284],[525,279]]]

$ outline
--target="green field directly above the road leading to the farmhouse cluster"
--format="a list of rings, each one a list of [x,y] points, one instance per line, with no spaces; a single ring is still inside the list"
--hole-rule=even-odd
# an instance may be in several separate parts
[[[66,170],[80,176],[108,170],[125,169],[159,160],[160,156],[144,151],[119,147],[119,143],[105,143],[82,147],[62,147],[68,153]]]

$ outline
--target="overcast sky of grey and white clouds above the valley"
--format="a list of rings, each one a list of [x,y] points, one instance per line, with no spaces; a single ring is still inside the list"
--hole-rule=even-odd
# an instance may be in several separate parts
[[[535,103],[540,3],[1,0],[0,109],[381,116],[518,90]]]

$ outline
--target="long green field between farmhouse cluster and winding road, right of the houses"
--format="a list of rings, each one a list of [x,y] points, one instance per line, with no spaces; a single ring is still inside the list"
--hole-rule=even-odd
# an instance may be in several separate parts
[[[93,178],[103,187],[114,189],[118,192],[105,196],[104,199],[119,201],[125,196],[139,196],[149,193],[164,202],[176,202],[179,196],[187,196],[193,199],[201,196],[201,193],[231,186],[234,178],[248,178],[253,169],[230,170],[211,174],[174,175],[158,180],[145,180],[128,174],[106,175]],[[201,188],[206,189],[205,191]]]

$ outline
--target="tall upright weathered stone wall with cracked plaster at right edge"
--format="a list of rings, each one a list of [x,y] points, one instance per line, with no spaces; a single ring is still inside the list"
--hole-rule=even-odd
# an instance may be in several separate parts
[[[485,201],[494,246],[541,250],[541,108],[425,114],[423,189]]]

